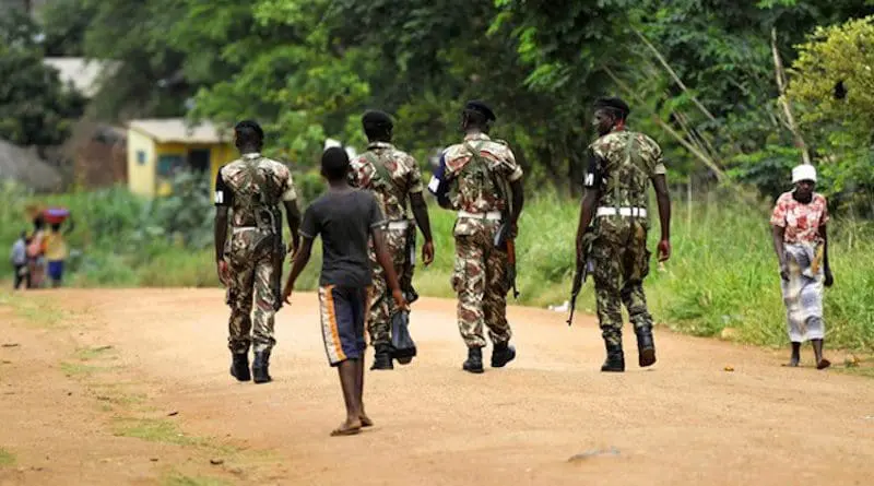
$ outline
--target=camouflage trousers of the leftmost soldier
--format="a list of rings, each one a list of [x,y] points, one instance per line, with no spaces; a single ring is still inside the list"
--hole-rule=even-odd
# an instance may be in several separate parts
[[[273,323],[277,296],[273,278],[274,272],[282,272],[282,268],[275,268],[270,251],[255,252],[233,245],[227,254],[231,270],[226,296],[231,306],[227,347],[232,353],[248,353],[253,344],[256,353],[270,351],[276,344]]]

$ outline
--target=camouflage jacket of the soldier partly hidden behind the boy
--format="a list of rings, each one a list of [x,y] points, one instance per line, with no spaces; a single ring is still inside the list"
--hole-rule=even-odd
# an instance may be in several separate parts
[[[424,190],[415,158],[390,143],[374,142],[350,167],[350,185],[373,192],[387,221],[410,217],[410,194]]]

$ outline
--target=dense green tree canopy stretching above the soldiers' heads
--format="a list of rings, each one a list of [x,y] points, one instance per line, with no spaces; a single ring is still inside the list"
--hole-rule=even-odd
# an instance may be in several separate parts
[[[672,180],[771,192],[802,154],[822,165],[847,144],[869,150],[871,120],[841,143],[814,132],[824,119],[847,128],[848,105],[871,117],[872,13],[871,0],[63,0],[45,28],[71,52],[125,61],[103,116],[255,117],[273,153],[302,166],[326,138],[361,146],[367,108],[393,114],[398,144],[424,163],[480,98],[529,180],[574,192],[591,103],[621,95]],[[838,79],[847,97],[817,100]]]

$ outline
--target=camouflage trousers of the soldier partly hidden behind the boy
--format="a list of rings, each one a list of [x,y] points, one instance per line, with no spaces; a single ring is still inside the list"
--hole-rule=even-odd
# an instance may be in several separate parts
[[[413,226],[412,229],[415,230],[415,227]],[[394,273],[398,275],[398,282],[402,285],[402,288],[404,282],[412,282],[413,278],[412,266],[406,264],[408,232],[409,229],[386,229],[383,232],[386,247],[392,263],[394,263]],[[370,344],[376,346],[391,343],[391,316],[394,313],[394,298],[391,296],[391,291],[386,280],[386,271],[376,260],[376,251],[373,245],[370,245],[370,266],[374,272],[374,288],[367,332],[370,335]]]

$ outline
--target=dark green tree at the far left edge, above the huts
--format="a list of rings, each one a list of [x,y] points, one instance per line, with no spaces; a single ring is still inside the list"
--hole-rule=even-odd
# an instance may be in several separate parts
[[[0,139],[58,145],[83,112],[84,98],[43,63],[38,26],[17,10],[0,17]]]

